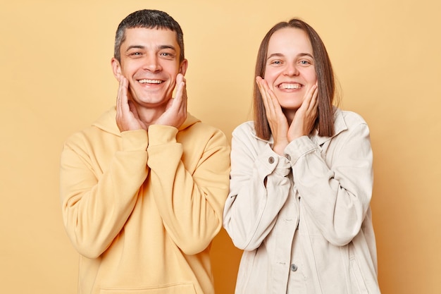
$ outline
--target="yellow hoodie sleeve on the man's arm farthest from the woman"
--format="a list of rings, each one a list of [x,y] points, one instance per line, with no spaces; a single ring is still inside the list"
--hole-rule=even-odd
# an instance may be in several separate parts
[[[120,233],[147,177],[147,132],[123,132],[122,142],[104,171],[96,170],[102,154],[94,154],[81,133],[61,152],[63,222],[76,250],[88,258],[99,257]]]

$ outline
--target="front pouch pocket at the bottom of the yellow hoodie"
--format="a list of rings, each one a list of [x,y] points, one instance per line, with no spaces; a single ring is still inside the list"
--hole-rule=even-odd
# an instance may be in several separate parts
[[[173,283],[145,288],[102,288],[99,294],[196,294],[192,283]]]

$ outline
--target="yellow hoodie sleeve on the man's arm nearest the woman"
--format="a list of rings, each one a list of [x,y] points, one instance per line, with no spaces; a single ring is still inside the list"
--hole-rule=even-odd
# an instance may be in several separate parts
[[[204,146],[195,146],[201,152],[184,154],[177,133],[178,129],[170,126],[150,125],[147,164],[154,200],[167,233],[185,254],[194,255],[205,250],[222,227],[230,145],[216,130],[208,140],[199,142]],[[182,157],[194,154],[198,158],[187,161],[196,166],[187,169]]]

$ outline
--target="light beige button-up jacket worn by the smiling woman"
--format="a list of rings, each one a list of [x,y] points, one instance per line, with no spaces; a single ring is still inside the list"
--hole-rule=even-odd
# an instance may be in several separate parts
[[[366,122],[337,109],[333,137],[299,137],[280,157],[252,122],[232,137],[223,226],[244,250],[237,294],[380,293]],[[294,278],[295,279],[295,278]]]

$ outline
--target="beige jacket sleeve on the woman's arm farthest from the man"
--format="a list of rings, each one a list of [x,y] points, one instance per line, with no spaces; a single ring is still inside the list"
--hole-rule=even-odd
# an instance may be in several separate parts
[[[358,123],[333,137],[333,154],[303,136],[287,146],[294,188],[302,207],[333,245],[349,243],[360,231],[371,202],[372,150],[366,123]]]

